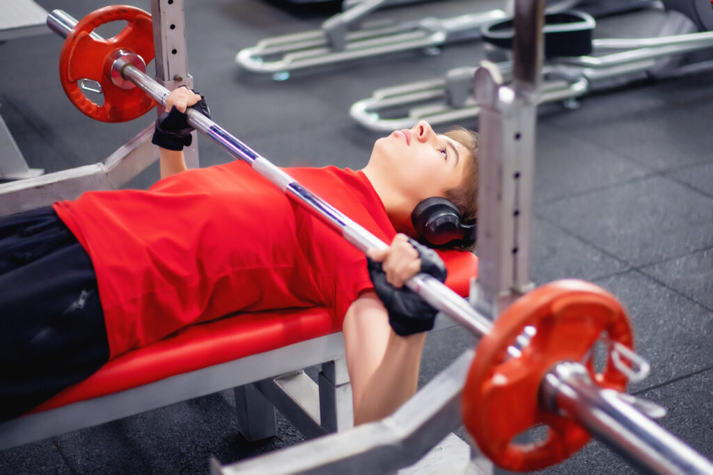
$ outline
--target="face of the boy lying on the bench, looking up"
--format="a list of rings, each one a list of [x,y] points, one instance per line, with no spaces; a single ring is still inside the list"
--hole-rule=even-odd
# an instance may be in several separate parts
[[[421,120],[410,130],[395,130],[376,140],[371,152],[374,160],[385,167],[393,186],[413,199],[415,206],[458,187],[471,157],[466,147],[445,135],[436,135],[431,125]]]

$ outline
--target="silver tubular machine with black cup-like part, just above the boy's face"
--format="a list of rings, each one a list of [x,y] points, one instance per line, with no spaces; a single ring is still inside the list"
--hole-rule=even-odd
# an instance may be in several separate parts
[[[663,4],[662,28],[655,38],[592,40],[595,20],[588,14],[567,11],[548,16],[551,23],[545,26],[545,43],[548,48],[553,46],[553,52],[543,68],[540,103],[562,102],[565,108],[578,108],[577,99],[593,90],[713,66],[706,51],[713,48],[713,32],[709,31],[713,11],[707,8],[708,1],[667,0]],[[651,8],[657,9],[656,4]],[[486,56],[498,62],[506,81],[513,68],[508,61],[511,36],[508,20],[483,27]],[[556,48],[587,43],[589,51],[580,54]],[[705,54],[700,57],[702,52]],[[379,132],[412,127],[419,120],[432,124],[476,120],[481,108],[473,96],[473,71],[473,67],[453,68],[443,78],[380,88],[371,97],[356,101],[349,114],[359,125]]]

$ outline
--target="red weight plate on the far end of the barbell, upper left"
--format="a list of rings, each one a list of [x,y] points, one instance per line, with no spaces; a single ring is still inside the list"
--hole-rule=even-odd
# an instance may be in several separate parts
[[[112,38],[96,40],[91,32],[110,21],[128,24]],[[133,6],[106,6],[88,14],[72,29],[59,56],[62,88],[82,113],[102,122],[126,122],[147,113],[155,105],[139,88],[122,89],[111,81],[108,56],[117,49],[133,51],[145,63],[153,60],[151,16]],[[79,88],[80,79],[96,80],[104,93],[103,105],[86,98]]]

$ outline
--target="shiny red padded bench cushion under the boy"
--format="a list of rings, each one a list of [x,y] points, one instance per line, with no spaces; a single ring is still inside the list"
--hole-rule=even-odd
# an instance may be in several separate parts
[[[446,285],[468,295],[478,258],[469,252],[443,252]],[[342,329],[326,308],[293,308],[240,313],[184,328],[145,348],[116,357],[96,373],[36,407],[32,412],[113,394],[166,377],[219,365],[249,355],[318,338]]]

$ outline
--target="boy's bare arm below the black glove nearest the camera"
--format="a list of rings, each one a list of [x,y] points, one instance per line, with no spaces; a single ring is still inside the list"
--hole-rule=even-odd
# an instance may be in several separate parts
[[[375,293],[365,293],[344,317],[354,424],[388,416],[416,393],[426,333],[399,336]]]

